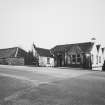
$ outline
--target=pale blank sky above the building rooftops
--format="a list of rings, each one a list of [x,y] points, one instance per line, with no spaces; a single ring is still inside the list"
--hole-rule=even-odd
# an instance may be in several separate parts
[[[0,0],[0,48],[97,41],[105,45],[105,0]]]

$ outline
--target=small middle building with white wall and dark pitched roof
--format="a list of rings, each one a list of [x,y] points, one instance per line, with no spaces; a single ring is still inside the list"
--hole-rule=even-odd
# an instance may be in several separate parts
[[[54,58],[49,49],[39,48],[33,44],[32,47],[33,56],[38,59],[39,66],[53,67]]]

